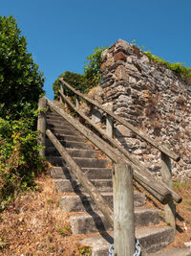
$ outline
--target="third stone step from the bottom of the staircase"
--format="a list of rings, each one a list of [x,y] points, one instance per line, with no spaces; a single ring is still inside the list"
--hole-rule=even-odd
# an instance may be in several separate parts
[[[113,193],[100,193],[113,209]],[[134,205],[140,207],[145,204],[145,196],[142,193],[134,193]],[[98,210],[96,204],[92,201],[89,195],[66,195],[60,197],[60,207],[65,212],[84,212]]]

